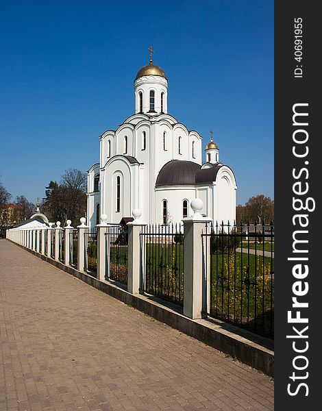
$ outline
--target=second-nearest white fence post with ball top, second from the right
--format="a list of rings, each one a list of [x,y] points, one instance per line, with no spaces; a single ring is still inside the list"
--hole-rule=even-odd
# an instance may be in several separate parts
[[[127,223],[127,291],[138,294],[140,292],[140,232],[147,223],[140,221],[142,212],[138,208],[134,209],[132,214],[134,221]]]

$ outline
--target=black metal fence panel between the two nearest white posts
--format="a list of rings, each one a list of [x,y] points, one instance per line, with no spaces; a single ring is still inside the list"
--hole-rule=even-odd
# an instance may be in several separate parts
[[[181,225],[147,225],[140,233],[140,289],[183,304],[184,234]]]

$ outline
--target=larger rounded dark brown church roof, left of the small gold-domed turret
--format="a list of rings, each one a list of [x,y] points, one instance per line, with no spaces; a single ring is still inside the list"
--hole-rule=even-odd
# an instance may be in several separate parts
[[[195,175],[199,171],[199,164],[186,160],[171,160],[164,164],[158,178],[156,187],[195,185]]]

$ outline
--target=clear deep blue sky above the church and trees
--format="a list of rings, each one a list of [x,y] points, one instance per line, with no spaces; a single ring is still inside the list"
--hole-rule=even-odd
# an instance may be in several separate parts
[[[99,135],[134,112],[153,63],[168,111],[220,149],[237,202],[273,199],[273,1],[2,1],[0,180],[29,201],[99,161]]]

